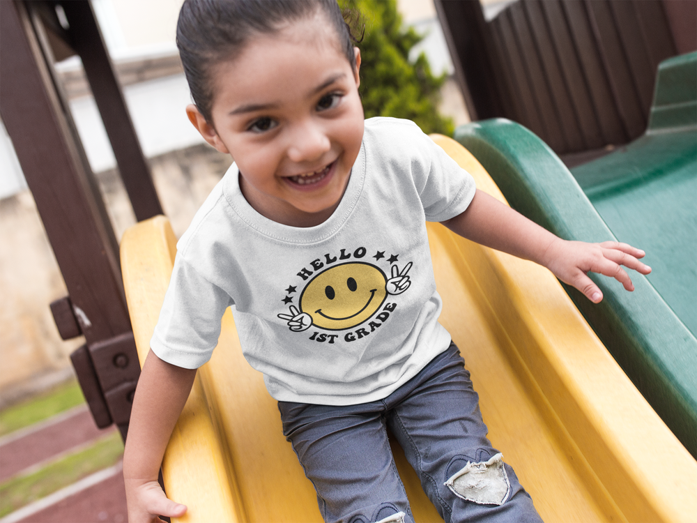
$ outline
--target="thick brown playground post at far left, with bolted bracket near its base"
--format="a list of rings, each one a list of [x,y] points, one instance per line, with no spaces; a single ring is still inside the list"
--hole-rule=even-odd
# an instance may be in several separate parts
[[[22,1],[0,1],[0,115],[86,340],[86,347],[73,358],[79,363],[75,368],[80,383],[91,391],[90,407],[98,425],[113,419],[123,433],[138,374],[125,367],[139,365],[135,345],[126,339],[131,326],[118,244],[35,18]],[[125,366],[123,358],[104,349],[116,345],[118,354],[128,356]],[[102,361],[105,358],[108,363]],[[109,364],[120,376],[116,381],[102,379]],[[95,368],[101,372],[95,373]]]

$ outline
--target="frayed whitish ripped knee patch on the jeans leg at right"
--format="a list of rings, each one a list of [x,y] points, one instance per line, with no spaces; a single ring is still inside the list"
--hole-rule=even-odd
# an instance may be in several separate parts
[[[459,467],[466,458],[454,457],[447,471]],[[503,505],[511,494],[511,483],[503,466],[503,454],[493,455],[487,461],[470,462],[452,474],[444,484],[453,494],[479,505]]]

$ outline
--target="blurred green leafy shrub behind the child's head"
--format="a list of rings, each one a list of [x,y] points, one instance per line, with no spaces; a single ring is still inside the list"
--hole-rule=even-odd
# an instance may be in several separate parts
[[[452,119],[438,113],[440,89],[447,73],[434,77],[421,53],[415,63],[409,51],[422,40],[414,29],[404,29],[396,0],[339,0],[355,9],[365,23],[360,48],[360,88],[365,117],[395,116],[415,121],[424,132],[452,135]],[[358,35],[360,38],[360,31]]]

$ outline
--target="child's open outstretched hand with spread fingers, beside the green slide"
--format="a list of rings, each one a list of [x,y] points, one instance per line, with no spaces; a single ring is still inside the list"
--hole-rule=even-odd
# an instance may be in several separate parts
[[[592,271],[615,278],[625,289],[633,291],[634,285],[622,266],[648,274],[650,266],[638,260],[644,255],[643,250],[627,243],[585,243],[555,238],[544,253],[543,264],[562,282],[579,289],[593,303],[599,303],[603,294],[586,273]]]

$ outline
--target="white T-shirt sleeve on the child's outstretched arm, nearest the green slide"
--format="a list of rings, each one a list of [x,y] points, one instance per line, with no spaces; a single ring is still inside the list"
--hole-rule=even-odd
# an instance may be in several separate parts
[[[424,135],[425,136],[425,135]],[[443,222],[463,213],[477,190],[473,177],[450,158],[434,141],[425,136],[430,165],[422,180],[419,195],[426,220]]]

